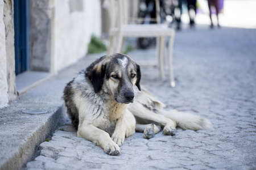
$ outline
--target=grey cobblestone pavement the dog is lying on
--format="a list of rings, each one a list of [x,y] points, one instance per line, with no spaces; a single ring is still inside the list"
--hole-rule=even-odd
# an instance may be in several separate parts
[[[129,53],[138,63],[154,54]],[[109,156],[66,125],[26,169],[256,169],[256,30],[176,32],[174,70],[175,88],[152,67],[142,68],[142,84],[167,109],[205,116],[214,129],[177,129],[172,137],[160,131],[149,140],[135,133],[121,155]]]

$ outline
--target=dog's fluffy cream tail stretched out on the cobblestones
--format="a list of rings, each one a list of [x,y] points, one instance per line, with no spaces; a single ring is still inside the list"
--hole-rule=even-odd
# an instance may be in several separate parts
[[[171,118],[177,123],[181,129],[201,130],[212,129],[212,123],[204,117],[192,114],[179,112],[177,110],[165,111],[162,113],[165,117]]]

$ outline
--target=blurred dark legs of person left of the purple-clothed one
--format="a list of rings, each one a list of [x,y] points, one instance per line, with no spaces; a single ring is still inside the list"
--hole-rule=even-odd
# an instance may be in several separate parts
[[[175,19],[177,22],[177,30],[180,29],[180,23],[181,23],[181,14],[182,14],[182,3],[185,0],[179,0],[178,6],[175,10]],[[188,15],[189,15],[189,24],[190,27],[195,26],[195,16],[196,16],[196,0],[187,0],[187,7],[188,7]]]

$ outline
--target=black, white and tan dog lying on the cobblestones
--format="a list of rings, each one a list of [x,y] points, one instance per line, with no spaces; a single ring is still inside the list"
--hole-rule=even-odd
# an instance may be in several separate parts
[[[119,155],[125,137],[142,131],[152,138],[182,129],[209,129],[210,121],[190,113],[164,111],[164,104],[141,88],[141,69],[125,54],[103,56],[82,70],[64,89],[67,112],[77,137]],[[137,87],[135,87],[137,86]]]

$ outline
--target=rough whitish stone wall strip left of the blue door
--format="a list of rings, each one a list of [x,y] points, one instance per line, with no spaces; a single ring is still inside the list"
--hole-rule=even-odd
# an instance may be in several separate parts
[[[0,0],[0,108],[16,97],[13,1]]]

